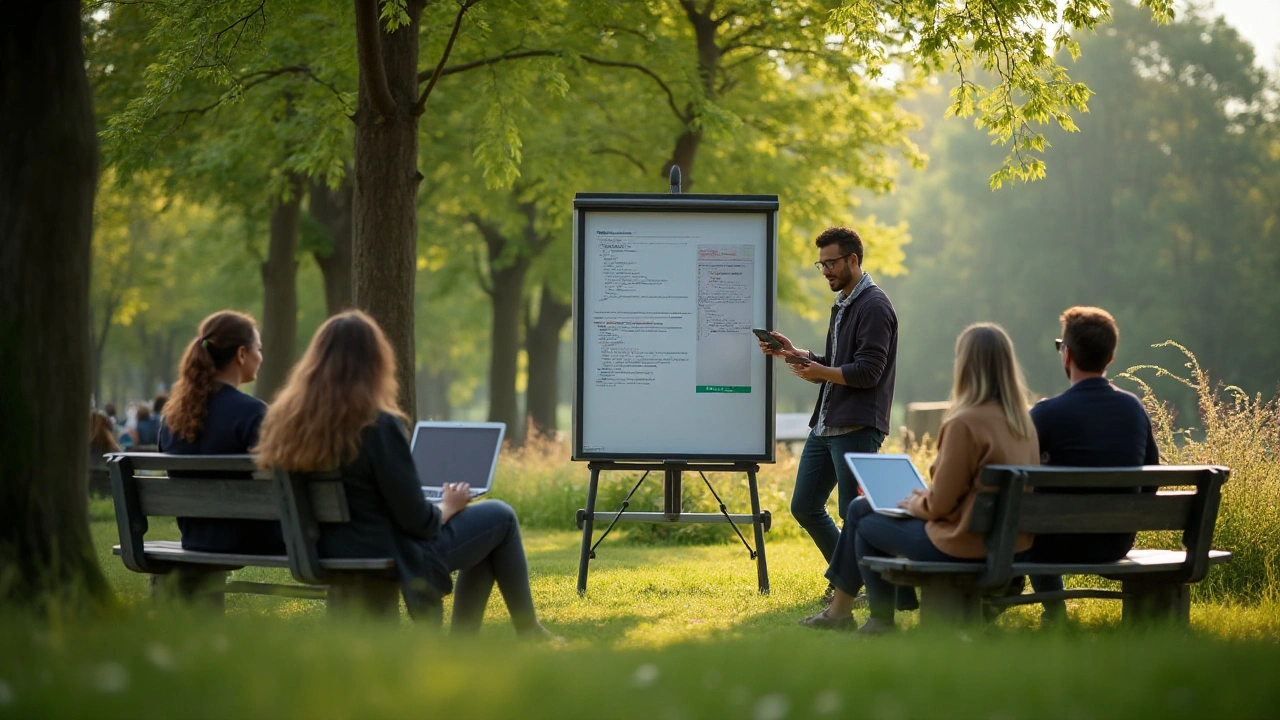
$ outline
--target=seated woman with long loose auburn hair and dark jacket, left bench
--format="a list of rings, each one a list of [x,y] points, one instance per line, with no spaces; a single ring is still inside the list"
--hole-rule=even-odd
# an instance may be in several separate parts
[[[378,324],[360,311],[334,315],[268,411],[259,461],[338,470],[351,523],[323,527],[320,553],[394,557],[415,616],[449,593],[457,570],[453,632],[479,630],[497,583],[517,634],[553,637],[534,611],[515,511],[497,500],[468,505],[466,483],[447,484],[439,505],[422,497],[397,392],[396,356]]]

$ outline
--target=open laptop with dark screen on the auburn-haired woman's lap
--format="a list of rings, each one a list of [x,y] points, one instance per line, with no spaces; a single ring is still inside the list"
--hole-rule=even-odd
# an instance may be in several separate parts
[[[422,497],[439,501],[445,483],[470,483],[472,498],[489,492],[506,432],[504,423],[424,420],[413,425],[408,447]]]

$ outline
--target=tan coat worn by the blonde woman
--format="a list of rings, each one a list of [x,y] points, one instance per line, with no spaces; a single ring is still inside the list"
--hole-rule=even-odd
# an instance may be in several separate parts
[[[987,465],[1039,465],[1039,441],[1014,436],[997,402],[986,402],[956,413],[938,432],[938,456],[929,468],[928,491],[911,500],[910,512],[927,520],[924,532],[933,544],[952,557],[978,560],[987,556],[982,536],[969,532],[973,501],[980,489]],[[1015,550],[1030,548],[1032,536],[1019,534]]]

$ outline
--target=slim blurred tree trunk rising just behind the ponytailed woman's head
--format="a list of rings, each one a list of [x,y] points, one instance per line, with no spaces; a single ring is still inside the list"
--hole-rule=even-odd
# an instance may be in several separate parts
[[[255,392],[270,401],[293,366],[298,341],[298,222],[302,178],[271,209],[271,238],[262,263],[262,368]]]

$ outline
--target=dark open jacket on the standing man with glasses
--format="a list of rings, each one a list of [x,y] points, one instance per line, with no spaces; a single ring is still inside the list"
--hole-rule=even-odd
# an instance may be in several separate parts
[[[827,324],[827,346],[822,355],[813,355],[818,364],[840,368],[845,384],[831,383],[826,423],[831,427],[861,425],[888,434],[888,410],[893,404],[893,379],[897,375],[897,313],[884,291],[877,286],[864,290],[845,309],[840,322],[840,342],[831,356],[831,334],[838,306],[831,307]],[[814,405],[809,427],[818,424],[822,393]]]

